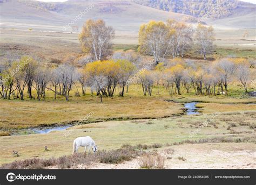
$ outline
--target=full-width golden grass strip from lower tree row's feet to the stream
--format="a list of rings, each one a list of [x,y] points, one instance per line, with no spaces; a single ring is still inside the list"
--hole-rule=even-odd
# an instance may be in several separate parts
[[[230,96],[196,96],[191,90],[182,95],[170,96],[160,87],[157,95],[157,87],[154,87],[152,96],[143,96],[142,88],[134,84],[129,87],[129,93],[119,97],[118,90],[113,97],[104,97],[100,103],[99,97],[93,95],[75,96],[75,89],[71,91],[70,101],[66,102],[63,96],[53,99],[53,93],[46,91],[46,98],[42,101],[29,99],[24,101],[15,97],[10,100],[0,99],[1,115],[0,128],[2,132],[14,131],[28,127],[63,125],[78,122],[80,119],[94,112],[85,123],[99,122],[101,120],[127,120],[127,119],[152,119],[172,117],[184,112],[183,104],[186,102],[202,102],[203,113],[226,111],[256,110],[256,98],[247,95],[239,95],[242,88],[230,87]],[[89,89],[86,90],[89,92]],[[36,96],[36,92],[33,91]],[[249,104],[254,103],[254,104]],[[5,133],[6,134],[6,133]]]

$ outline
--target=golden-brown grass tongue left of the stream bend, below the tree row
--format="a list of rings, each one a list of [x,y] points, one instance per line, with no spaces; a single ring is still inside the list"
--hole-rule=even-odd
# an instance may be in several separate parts
[[[154,97],[108,97],[104,98],[103,103],[100,103],[97,97],[79,97],[79,101],[73,98],[70,102],[0,99],[3,112],[0,115],[0,127],[21,129],[39,125],[71,123],[83,119],[92,111],[95,113],[89,117],[88,122],[163,118],[183,112],[182,105]],[[148,109],[149,105],[154,106]]]

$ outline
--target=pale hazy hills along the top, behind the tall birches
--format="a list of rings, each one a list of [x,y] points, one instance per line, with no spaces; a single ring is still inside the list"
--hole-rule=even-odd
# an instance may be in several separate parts
[[[69,0],[67,2],[35,2],[28,0],[0,0],[2,27],[62,31],[81,11],[92,3],[93,8],[76,20],[72,26],[79,31],[87,19],[104,19],[117,35],[137,37],[139,26],[150,20],[185,20],[197,24],[197,17],[214,8],[220,0]],[[165,3],[164,3],[165,2]],[[213,2],[213,3],[212,3]],[[214,19],[203,20],[208,25],[225,29],[255,28],[256,5],[234,0],[225,2]],[[164,3],[164,4],[163,4]],[[174,4],[173,4],[174,3]],[[172,8],[173,7],[173,8]],[[163,11],[165,10],[165,11]],[[192,16],[191,16],[192,15]],[[223,18],[225,17],[225,18]],[[68,31],[72,31],[69,29]]]

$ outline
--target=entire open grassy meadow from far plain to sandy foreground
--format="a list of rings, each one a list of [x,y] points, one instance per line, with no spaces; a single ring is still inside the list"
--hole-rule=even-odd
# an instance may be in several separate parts
[[[165,15],[167,12],[161,16]],[[134,24],[128,31],[122,30],[125,27],[117,30],[113,52],[132,51],[138,54],[136,29],[139,25]],[[6,26],[8,28],[1,29],[0,61],[3,62],[8,56],[31,55],[40,59],[42,66],[56,67],[83,55],[77,33],[58,32],[51,25],[48,26],[55,30],[45,31],[37,26],[25,25],[25,29],[22,27],[21,30],[14,24],[12,28]],[[247,38],[242,37],[245,32],[249,33]],[[194,60],[199,66],[211,66],[215,60],[226,57],[255,60],[254,32],[253,29],[217,29],[216,49],[213,54],[207,55],[208,60],[203,60],[196,49],[188,52],[184,60]],[[151,56],[142,56],[151,59]],[[254,72],[255,68],[250,70]],[[255,79],[255,73],[252,74],[252,79]],[[78,84],[77,87],[81,91]],[[129,92],[124,97],[119,96],[119,90],[120,87],[117,87],[113,97],[103,97],[103,103],[96,94],[90,95],[90,88],[86,88],[84,96],[77,96],[75,87],[68,102],[60,95],[54,99],[50,90],[46,90],[46,97],[41,101],[29,99],[26,90],[24,101],[16,96],[0,99],[0,165],[32,158],[69,158],[73,140],[91,136],[103,153],[106,150],[112,154],[112,150],[125,146],[136,147],[136,151],[165,155],[165,150],[173,150],[174,154],[171,152],[166,157],[167,168],[255,168],[256,98],[244,93],[237,80],[228,85],[227,95],[210,97],[195,95],[192,88],[186,93],[184,87],[181,87],[181,95],[170,95],[160,86],[158,94],[156,84],[153,84],[152,96],[144,96],[142,86],[136,83],[129,86]],[[255,84],[248,83],[248,91],[255,91]],[[32,95],[36,97],[35,89]],[[189,102],[198,102],[198,115],[186,115],[184,104]],[[91,112],[92,116],[88,117]],[[213,117],[216,112],[218,116]],[[81,119],[81,125],[73,126]],[[35,128],[64,125],[71,127],[45,134],[33,132]],[[48,150],[44,149],[45,146]],[[79,148],[79,152],[83,150]],[[19,156],[13,155],[12,151],[18,151]],[[100,166],[99,162],[92,168],[139,168],[138,162],[135,163],[133,161],[133,166],[122,166],[123,163],[119,164],[121,166]],[[89,168],[79,165],[71,168]],[[70,167],[64,165],[61,168]]]

